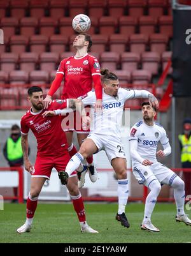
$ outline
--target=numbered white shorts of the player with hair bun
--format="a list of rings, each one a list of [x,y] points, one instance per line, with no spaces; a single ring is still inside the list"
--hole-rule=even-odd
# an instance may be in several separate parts
[[[99,151],[104,150],[106,152],[110,163],[112,159],[117,157],[126,158],[124,146],[119,137],[103,134],[90,134],[87,139],[93,140]]]

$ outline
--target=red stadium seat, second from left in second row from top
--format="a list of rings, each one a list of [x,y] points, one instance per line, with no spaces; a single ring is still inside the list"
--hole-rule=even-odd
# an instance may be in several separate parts
[[[24,17],[20,19],[20,34],[24,36],[32,36],[36,34],[38,27],[38,19],[35,17]]]

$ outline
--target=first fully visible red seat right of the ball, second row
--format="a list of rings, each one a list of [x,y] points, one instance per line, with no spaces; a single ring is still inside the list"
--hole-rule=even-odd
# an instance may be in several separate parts
[[[99,19],[99,31],[101,34],[108,35],[114,34],[117,27],[117,19],[115,17],[101,17]]]

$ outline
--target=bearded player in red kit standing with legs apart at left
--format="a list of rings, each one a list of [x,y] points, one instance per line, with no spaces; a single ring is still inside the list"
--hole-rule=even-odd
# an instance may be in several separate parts
[[[66,135],[61,128],[61,119],[59,117],[43,117],[43,91],[38,86],[32,86],[28,90],[31,109],[24,114],[21,119],[22,133],[22,151],[24,154],[25,169],[31,173],[31,191],[27,198],[27,219],[24,225],[17,229],[18,233],[30,232],[32,220],[36,211],[38,196],[46,179],[50,179],[52,168],[55,167],[59,172],[59,178],[62,184],[63,177],[66,175],[64,170],[70,156],[67,151]],[[58,109],[60,107],[75,107],[73,99],[53,100],[48,109]],[[86,117],[85,117],[86,118]],[[38,152],[36,162],[32,167],[28,157],[28,132],[31,129],[37,139]],[[85,209],[83,200],[78,188],[78,179],[76,171],[69,178],[67,189],[73,199],[74,210],[78,215],[81,226],[81,232],[98,233],[96,230],[88,226],[85,218]]]

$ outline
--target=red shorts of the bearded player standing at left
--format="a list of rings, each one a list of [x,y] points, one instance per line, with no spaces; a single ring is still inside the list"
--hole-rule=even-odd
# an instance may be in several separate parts
[[[32,177],[45,177],[50,179],[50,175],[53,167],[57,172],[63,171],[66,169],[66,165],[70,160],[68,153],[58,154],[57,156],[37,156],[36,162],[34,165],[34,174]],[[70,177],[76,176],[76,171],[71,174]]]

